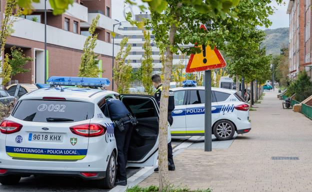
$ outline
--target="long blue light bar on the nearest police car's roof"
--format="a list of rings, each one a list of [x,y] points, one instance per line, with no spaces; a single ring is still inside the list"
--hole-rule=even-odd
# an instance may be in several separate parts
[[[51,76],[47,79],[49,85],[79,85],[91,87],[109,86],[110,81],[107,78],[92,77],[63,77]]]

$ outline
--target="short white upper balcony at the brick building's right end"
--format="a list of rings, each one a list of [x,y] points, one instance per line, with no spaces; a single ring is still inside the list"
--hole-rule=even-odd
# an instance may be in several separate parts
[[[81,22],[80,23],[80,27],[89,27],[90,26],[90,23],[92,22],[92,19],[96,17],[96,15],[99,14],[99,19],[98,19],[98,22],[97,22],[97,27],[100,27],[100,28],[103,28],[103,29],[106,29],[108,31],[112,31],[112,25],[117,23],[117,21],[115,21],[114,19],[108,17],[108,16],[105,16],[101,13],[88,13],[88,20],[87,22]],[[119,34],[117,32],[117,26],[115,26],[115,32],[117,34]]]

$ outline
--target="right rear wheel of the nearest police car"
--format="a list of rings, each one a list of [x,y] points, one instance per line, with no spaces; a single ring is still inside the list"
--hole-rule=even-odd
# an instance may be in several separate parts
[[[112,152],[106,168],[105,178],[95,181],[96,186],[99,189],[111,189],[115,183],[116,173],[116,155]]]

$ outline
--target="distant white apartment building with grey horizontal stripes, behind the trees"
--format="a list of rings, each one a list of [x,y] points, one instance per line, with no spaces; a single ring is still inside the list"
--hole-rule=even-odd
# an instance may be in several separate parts
[[[150,18],[150,15],[145,13],[140,13],[135,15],[135,20],[141,21],[142,18]],[[127,61],[131,64],[133,71],[137,70],[141,66],[141,61],[144,55],[143,44],[145,42],[143,36],[143,30],[137,28],[136,26],[132,26],[127,21],[122,21],[121,26],[118,28],[119,35],[115,36],[114,43],[116,45],[120,44],[120,41],[123,37],[128,37],[128,44],[131,45],[131,50],[129,55],[127,56]],[[151,50],[152,50],[152,64],[153,64],[153,73],[160,73],[162,65],[160,62],[159,49],[156,47],[156,44],[153,42],[154,35],[152,35],[152,31],[150,32],[151,39]],[[183,65],[187,65],[188,56],[186,55],[174,55],[173,56],[173,64],[178,64],[181,62]]]

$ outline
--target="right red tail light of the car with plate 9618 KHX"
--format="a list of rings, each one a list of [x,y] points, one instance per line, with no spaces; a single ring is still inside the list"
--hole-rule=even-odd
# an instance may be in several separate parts
[[[106,128],[100,124],[82,124],[75,125],[69,128],[73,134],[83,136],[83,137],[97,137],[104,135]]]

